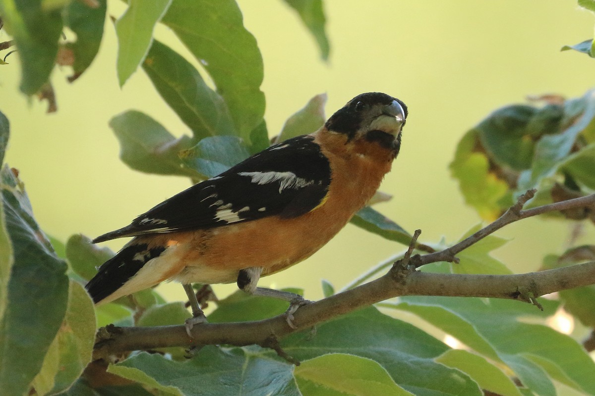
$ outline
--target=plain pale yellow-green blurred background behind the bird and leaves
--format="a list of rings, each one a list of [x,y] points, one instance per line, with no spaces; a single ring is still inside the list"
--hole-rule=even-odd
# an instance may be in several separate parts
[[[239,4],[264,58],[262,89],[271,134],[322,92],[328,94],[327,115],[365,91],[384,91],[408,104],[402,151],[381,188],[394,199],[377,209],[411,232],[422,229],[424,242],[441,236],[456,240],[479,221],[447,169],[466,130],[491,110],[524,102],[527,95],[580,96],[594,85],[595,59],[559,51],[593,37],[593,15],[574,0],[326,1],[328,64],[320,61],[314,40],[283,2]],[[124,9],[120,2],[109,6],[115,16]],[[156,35],[176,42],[163,27]],[[0,41],[5,39],[0,31]],[[43,229],[61,240],[124,226],[189,186],[184,178],[135,172],[118,159],[108,121],[124,110],[143,110],[174,134],[189,131],[142,71],[118,88],[115,53],[109,22],[98,59],[79,81],[68,84],[71,71],[55,70],[59,111],[53,115],[45,115],[45,103],[34,99],[28,105],[18,93],[17,54],[7,59],[10,65],[0,67],[0,110],[10,119],[12,134],[7,161],[20,170]],[[580,242],[593,243],[593,229],[586,224]],[[569,228],[530,219],[499,235],[513,240],[496,256],[521,272],[538,268],[545,253],[561,252]],[[123,242],[107,245],[118,249]],[[340,287],[402,249],[347,226],[311,259],[265,278],[261,285],[303,287],[306,297],[317,299],[321,279]],[[183,296],[179,286],[161,290],[172,299]],[[234,287],[216,290],[224,295]]]

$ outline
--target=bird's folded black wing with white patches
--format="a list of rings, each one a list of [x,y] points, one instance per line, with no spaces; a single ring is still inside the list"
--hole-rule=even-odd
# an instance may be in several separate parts
[[[129,226],[93,242],[208,229],[273,215],[299,216],[324,202],[330,180],[330,164],[314,137],[292,138],[174,195]]]

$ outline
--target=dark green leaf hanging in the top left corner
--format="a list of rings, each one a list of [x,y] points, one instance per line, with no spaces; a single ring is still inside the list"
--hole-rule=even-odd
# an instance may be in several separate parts
[[[4,27],[14,37],[21,58],[24,94],[35,94],[49,80],[62,33],[61,11],[43,7],[42,0],[0,1]]]

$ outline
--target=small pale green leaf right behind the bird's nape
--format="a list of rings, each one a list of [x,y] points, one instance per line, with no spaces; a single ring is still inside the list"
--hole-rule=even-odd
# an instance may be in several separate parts
[[[326,103],[327,94],[325,93],[310,99],[303,109],[298,110],[287,119],[275,142],[282,142],[289,138],[318,131],[318,128],[324,125],[326,120],[324,115],[324,105]]]

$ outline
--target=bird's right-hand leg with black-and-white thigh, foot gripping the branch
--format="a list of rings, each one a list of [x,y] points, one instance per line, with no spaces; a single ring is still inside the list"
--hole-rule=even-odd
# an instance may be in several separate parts
[[[237,274],[237,287],[253,296],[273,297],[275,299],[289,302],[289,308],[287,308],[287,311],[284,313],[285,320],[289,327],[296,329],[296,325],[293,324],[293,313],[295,313],[300,306],[309,304],[311,301],[304,299],[299,294],[267,289],[266,287],[256,287],[261,273],[262,267],[250,267],[240,270]]]

